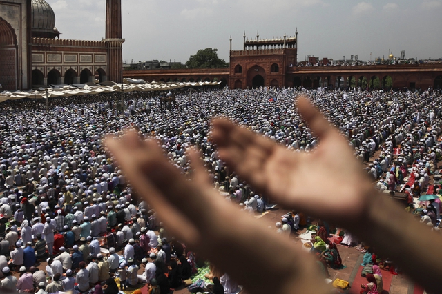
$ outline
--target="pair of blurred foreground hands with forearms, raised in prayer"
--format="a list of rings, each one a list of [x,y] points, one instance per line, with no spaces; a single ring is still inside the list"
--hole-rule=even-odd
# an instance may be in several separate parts
[[[293,152],[227,119],[215,119],[211,140],[220,159],[271,201],[347,228],[381,255],[392,257],[414,282],[438,292],[442,265],[440,258],[427,253],[439,254],[442,236],[374,190],[354,150],[307,98],[298,98],[297,106],[320,139],[315,150]],[[122,139],[108,137],[104,145],[168,230],[228,271],[249,293],[289,293],[293,288],[299,293],[329,293],[311,255],[218,196],[195,150],[188,153],[193,169],[193,182],[189,182],[169,164],[154,140],[141,141],[134,131]],[[331,192],[325,195],[323,186]],[[410,242],[397,246],[392,236]],[[231,254],[238,250],[242,254]]]

